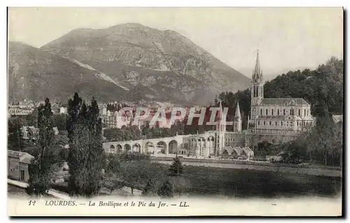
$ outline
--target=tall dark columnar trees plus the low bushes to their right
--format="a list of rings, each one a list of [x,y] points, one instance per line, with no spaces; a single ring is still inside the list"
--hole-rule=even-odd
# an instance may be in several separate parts
[[[122,154],[106,158],[102,148],[102,121],[94,99],[90,105],[78,94],[69,100],[66,130],[70,148],[65,152],[55,147],[62,139],[55,138],[52,120],[50,101],[46,99],[45,105],[38,108],[39,134],[31,151],[35,158],[29,166],[29,194],[45,194],[64,159],[69,165],[68,191],[71,196],[89,197],[98,194],[102,187],[113,192],[125,186],[132,188],[132,193],[134,189],[140,189],[145,196],[174,194],[171,178],[174,175],[179,178],[183,171],[179,158],[174,160],[169,171],[141,154],[139,157]]]

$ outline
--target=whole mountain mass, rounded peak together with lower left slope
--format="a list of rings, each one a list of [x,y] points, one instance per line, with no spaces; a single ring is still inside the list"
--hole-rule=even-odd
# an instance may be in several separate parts
[[[10,101],[78,92],[103,102],[207,105],[250,82],[181,34],[141,24],[74,29],[41,48],[10,42],[8,52]]]

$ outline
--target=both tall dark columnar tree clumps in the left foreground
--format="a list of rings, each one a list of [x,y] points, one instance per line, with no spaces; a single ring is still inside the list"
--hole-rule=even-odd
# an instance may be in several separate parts
[[[66,131],[68,150],[57,150],[64,138],[55,138],[49,99],[38,108],[38,138],[30,154],[34,160],[29,167],[29,194],[42,195],[50,188],[50,181],[63,159],[69,164],[69,192],[71,196],[93,196],[102,187],[102,169],[105,153],[102,148],[102,120],[99,118],[97,101],[88,106],[74,94],[69,100]],[[63,142],[66,143],[66,142]],[[59,153],[59,154],[57,154]],[[62,159],[57,159],[62,157]]]

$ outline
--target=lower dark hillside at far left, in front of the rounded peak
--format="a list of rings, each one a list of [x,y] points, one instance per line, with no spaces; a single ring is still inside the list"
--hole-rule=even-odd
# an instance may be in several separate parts
[[[31,99],[66,101],[79,92],[90,101],[110,101],[127,96],[128,91],[104,80],[98,71],[81,64],[43,52],[31,45],[8,43],[8,96],[9,101]]]

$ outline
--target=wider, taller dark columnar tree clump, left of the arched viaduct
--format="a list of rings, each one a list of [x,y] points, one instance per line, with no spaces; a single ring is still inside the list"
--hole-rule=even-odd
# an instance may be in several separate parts
[[[99,108],[93,98],[87,107],[78,93],[68,104],[69,191],[71,195],[93,196],[102,187],[105,166]]]

